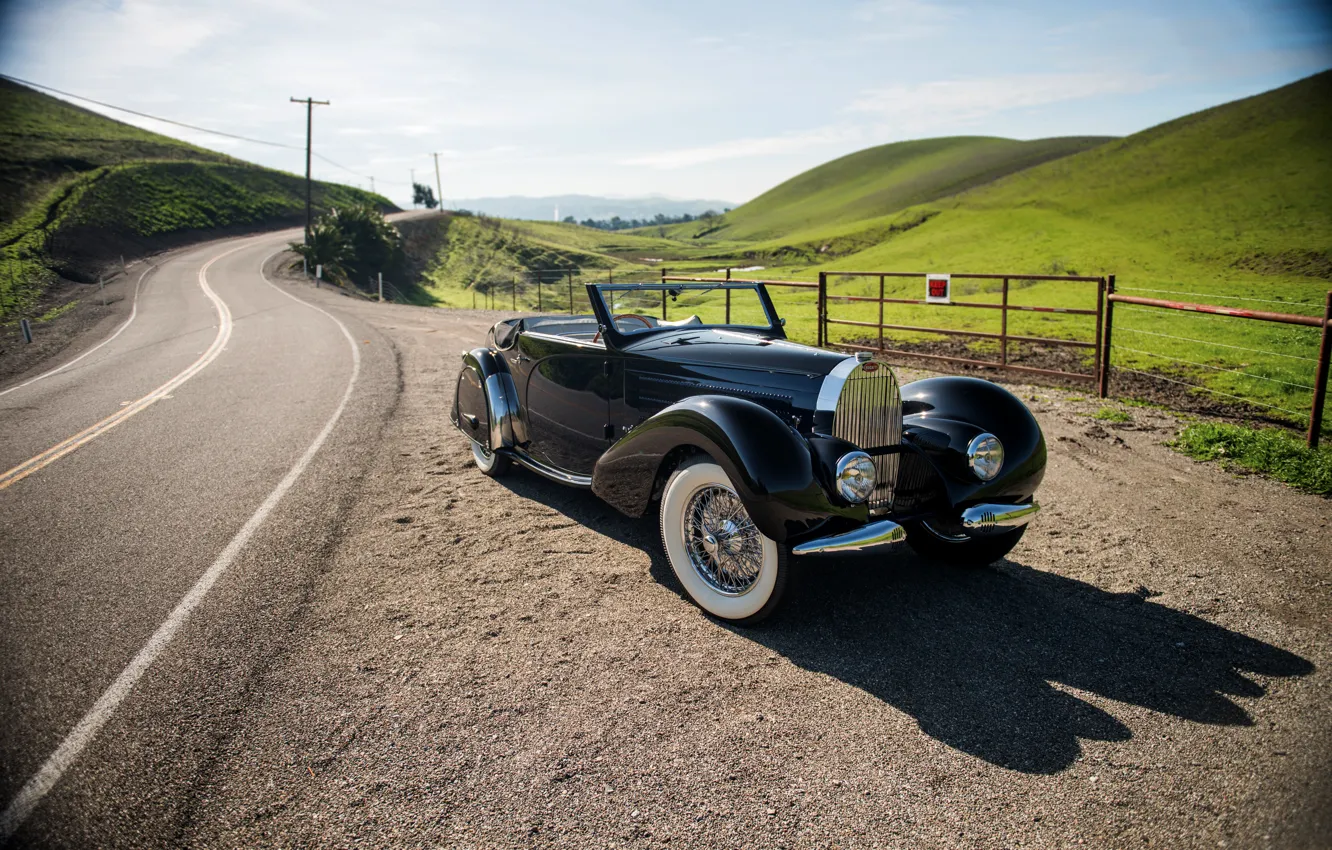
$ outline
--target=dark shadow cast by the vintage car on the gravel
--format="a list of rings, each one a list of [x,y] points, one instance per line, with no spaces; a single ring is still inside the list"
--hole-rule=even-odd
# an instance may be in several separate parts
[[[630,520],[590,493],[535,476],[505,484],[643,549],[653,577],[691,605],[661,552],[655,514]],[[1197,723],[1249,726],[1231,697],[1265,690],[1245,674],[1313,671],[1293,653],[1152,602],[1146,588],[1107,593],[1024,566],[1020,546],[1012,560],[980,570],[931,566],[904,548],[886,558],[793,566],[777,618],[727,628],[910,714],[951,747],[1023,773],[1064,770],[1082,738],[1132,737],[1071,690]]]

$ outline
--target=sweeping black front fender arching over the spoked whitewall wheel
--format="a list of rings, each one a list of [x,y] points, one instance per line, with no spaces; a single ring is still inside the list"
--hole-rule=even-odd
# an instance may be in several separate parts
[[[591,489],[615,509],[641,517],[667,457],[698,449],[735,486],[754,525],[778,542],[832,517],[864,522],[864,505],[834,505],[815,472],[810,445],[771,410],[745,398],[694,396],[650,417],[613,445],[591,476]]]

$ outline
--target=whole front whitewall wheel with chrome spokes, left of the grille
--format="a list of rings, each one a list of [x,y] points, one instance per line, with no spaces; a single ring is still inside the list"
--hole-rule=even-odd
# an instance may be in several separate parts
[[[671,474],[662,494],[661,530],[675,577],[709,614],[753,625],[782,601],[786,546],[754,526],[717,464],[699,458]]]

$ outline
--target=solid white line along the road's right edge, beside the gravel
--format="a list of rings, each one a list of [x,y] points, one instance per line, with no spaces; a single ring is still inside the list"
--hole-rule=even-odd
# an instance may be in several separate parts
[[[226,548],[222,549],[220,556],[217,556],[217,560],[213,561],[212,566],[209,566],[208,570],[200,576],[198,581],[194,582],[194,586],[185,593],[181,601],[176,604],[176,608],[172,609],[170,614],[166,616],[163,625],[160,625],[153,636],[148,638],[148,642],[144,643],[144,647],[140,649],[133,657],[129,666],[127,666],[121,674],[116,677],[116,681],[111,683],[111,687],[108,687],[101,697],[97,698],[97,702],[93,703],[92,709],[89,709],[73,730],[65,735],[65,739],[60,742],[56,751],[52,753],[37,773],[33,774],[27,783],[24,783],[19,794],[15,795],[13,801],[11,801],[5,807],[4,814],[0,814],[0,842],[8,841],[15,831],[17,831],[23,822],[28,819],[28,815],[32,814],[32,810],[37,807],[37,803],[40,803],[51,789],[60,782],[60,778],[71,767],[71,765],[73,765],[75,759],[79,758],[84,747],[87,747],[93,738],[97,737],[101,727],[107,725],[107,721],[109,721],[112,714],[116,713],[120,703],[129,695],[135,683],[139,682],[157,657],[163,654],[166,645],[170,643],[170,639],[176,637],[177,632],[181,630],[185,621],[189,620],[189,616],[194,613],[194,609],[200,606],[204,597],[208,596],[208,592],[212,590],[214,584],[217,584],[217,580],[222,577],[228,568],[230,568],[236,556],[240,554],[240,552],[249,542],[250,537],[254,536],[254,532],[264,525],[268,514],[273,512],[273,508],[277,506],[282,497],[286,496],[286,492],[292,489],[292,485],[296,484],[297,478],[300,478],[305,469],[310,465],[310,461],[314,460],[314,456],[328,440],[329,434],[333,433],[333,426],[337,425],[340,418],[342,418],[342,412],[346,410],[348,401],[352,398],[352,390],[356,388],[356,381],[361,374],[361,349],[357,348],[356,338],[352,336],[352,332],[348,330],[346,325],[344,325],[336,316],[310,304],[309,301],[297,298],[292,293],[280,289],[277,284],[270,281],[268,276],[264,274],[264,265],[278,253],[281,253],[281,250],[266,256],[262,262],[260,262],[260,277],[264,278],[264,282],[297,304],[302,304],[312,310],[317,310],[328,316],[342,332],[342,336],[346,337],[346,342],[352,349],[352,377],[348,380],[346,390],[342,393],[342,400],[338,402],[337,409],[333,410],[333,416],[329,417],[328,422],[324,425],[324,429],[314,438],[314,442],[305,449],[305,453],[296,461],[296,465],[292,466],[286,476],[277,484],[276,488],[273,488],[273,492],[268,494],[268,498],[265,498],[264,504],[258,506],[258,510],[256,510],[250,518],[245,521],[245,525],[242,525],[241,530],[236,533],[236,537],[226,544]]]

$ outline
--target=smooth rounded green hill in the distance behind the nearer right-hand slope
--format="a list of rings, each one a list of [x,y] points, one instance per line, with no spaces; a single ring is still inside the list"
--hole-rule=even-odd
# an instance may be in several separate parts
[[[1034,141],[954,136],[879,145],[798,175],[711,225],[690,222],[673,234],[766,241],[878,218],[1106,141],[1100,136]]]

